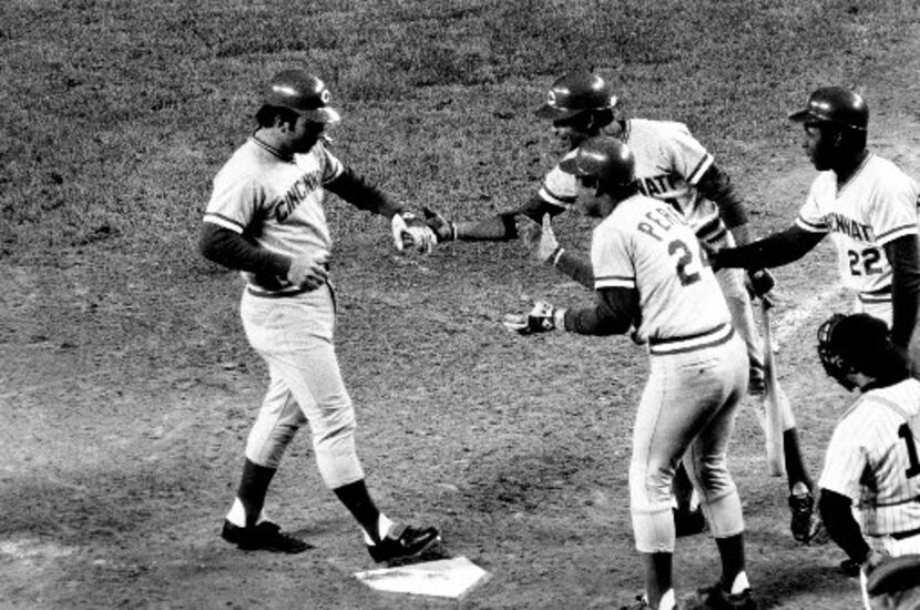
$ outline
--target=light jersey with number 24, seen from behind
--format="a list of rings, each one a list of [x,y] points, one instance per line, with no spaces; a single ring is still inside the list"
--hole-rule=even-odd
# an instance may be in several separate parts
[[[699,242],[668,204],[641,194],[617,204],[594,230],[591,263],[595,289],[638,292],[637,342],[730,333],[728,306]]]

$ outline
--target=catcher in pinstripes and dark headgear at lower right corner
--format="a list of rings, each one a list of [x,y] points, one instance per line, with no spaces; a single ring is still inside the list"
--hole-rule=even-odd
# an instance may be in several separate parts
[[[841,568],[856,576],[881,555],[920,558],[920,380],[869,314],[828,318],[818,355],[830,377],[860,392],[834,429],[818,480],[825,527],[848,556]]]

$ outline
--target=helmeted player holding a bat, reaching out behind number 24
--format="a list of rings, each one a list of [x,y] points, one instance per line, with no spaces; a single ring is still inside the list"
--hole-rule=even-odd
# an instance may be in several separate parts
[[[574,150],[594,135],[603,133],[620,139],[635,155],[637,184],[643,194],[664,201],[683,214],[697,237],[712,247],[748,243],[747,212],[740,197],[726,172],[686,125],[645,119],[616,120],[615,104],[616,96],[602,78],[575,71],[553,83],[546,102],[536,115],[552,121],[554,131],[570,149],[564,159],[571,159]],[[510,240],[519,235],[515,218],[525,215],[540,222],[545,214],[561,214],[572,206],[575,193],[574,177],[555,165],[545,175],[540,190],[520,210],[456,223],[429,212],[429,222],[439,242]],[[572,264],[570,253],[562,248],[540,250],[539,232],[520,233],[539,258],[553,264],[576,282],[593,286],[590,266],[582,268]],[[773,286],[773,278],[766,272],[753,272],[750,277],[758,294],[767,293]],[[733,325],[747,345],[750,392],[763,396],[764,358],[744,274],[723,270],[716,273],[716,278],[728,303]],[[787,411],[784,415],[791,529],[796,539],[807,540],[816,528],[812,508],[811,504],[798,500],[807,497],[812,482],[801,457],[793,414]],[[689,485],[688,481],[682,484],[685,480],[683,468],[678,468],[675,485],[678,535],[695,533],[705,525],[702,514],[691,510]]]

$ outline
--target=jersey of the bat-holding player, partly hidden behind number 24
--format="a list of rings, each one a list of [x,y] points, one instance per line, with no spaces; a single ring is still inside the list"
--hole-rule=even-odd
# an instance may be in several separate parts
[[[715,162],[713,155],[683,123],[630,119],[621,124],[623,130],[616,138],[633,152],[642,193],[667,202],[683,214],[699,238],[713,243],[720,240],[727,228],[718,207],[696,187]],[[550,170],[539,191],[540,199],[565,209],[575,202],[576,194],[575,177],[559,165]]]

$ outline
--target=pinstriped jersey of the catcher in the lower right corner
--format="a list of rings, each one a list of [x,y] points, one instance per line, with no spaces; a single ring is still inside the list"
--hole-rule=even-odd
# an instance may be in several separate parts
[[[870,536],[920,528],[920,382],[870,389],[830,438],[819,486],[853,500]]]

